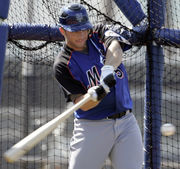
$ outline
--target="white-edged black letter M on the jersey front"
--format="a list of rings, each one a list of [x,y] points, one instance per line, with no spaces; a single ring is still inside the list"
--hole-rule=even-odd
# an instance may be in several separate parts
[[[90,70],[86,72],[86,74],[89,81],[88,88],[92,86],[97,86],[99,84],[100,76],[99,76],[96,66],[93,66]]]

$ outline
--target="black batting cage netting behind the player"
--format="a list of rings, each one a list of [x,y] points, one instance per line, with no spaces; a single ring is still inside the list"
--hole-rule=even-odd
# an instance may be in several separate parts
[[[128,33],[132,35],[129,40],[133,46],[124,53],[123,62],[134,102],[133,113],[144,136],[145,149],[154,148],[151,136],[147,138],[147,135],[154,134],[154,130],[157,130],[155,137],[160,141],[158,153],[153,154],[147,149],[145,152],[149,154],[146,157],[160,158],[162,169],[180,168],[179,0],[11,1],[8,18],[4,20],[9,26],[9,36],[0,106],[0,168],[68,168],[73,116],[15,163],[6,162],[3,153],[71,106],[66,103],[52,71],[63,40],[49,31],[58,27],[60,9],[70,2],[83,4],[92,24],[118,26],[120,31],[126,32],[126,37],[129,37]],[[161,15],[160,11],[163,11]],[[158,50],[152,50],[151,45],[158,46]],[[152,80],[153,76],[156,76],[155,80]],[[147,86],[149,81],[152,83]],[[154,96],[160,94],[157,97],[148,95],[147,88],[155,93]],[[149,102],[149,98],[154,101]],[[158,114],[155,119],[157,127],[153,123],[153,113]],[[164,123],[174,124],[176,133],[168,137],[161,135],[159,125]],[[157,169],[153,165],[149,168]],[[107,159],[103,169],[110,168]]]

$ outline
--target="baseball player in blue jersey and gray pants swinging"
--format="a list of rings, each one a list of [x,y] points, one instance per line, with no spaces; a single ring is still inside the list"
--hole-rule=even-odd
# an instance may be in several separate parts
[[[69,169],[101,169],[107,157],[114,169],[141,169],[142,136],[122,63],[128,42],[117,28],[93,27],[81,4],[63,7],[59,22],[65,43],[53,68],[67,101],[95,93],[74,112]]]

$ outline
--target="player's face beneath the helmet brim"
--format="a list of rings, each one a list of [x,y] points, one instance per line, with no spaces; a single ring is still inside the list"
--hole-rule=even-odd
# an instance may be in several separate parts
[[[84,50],[86,46],[86,41],[88,39],[89,30],[77,31],[77,32],[69,32],[63,30],[66,44],[76,51]]]

